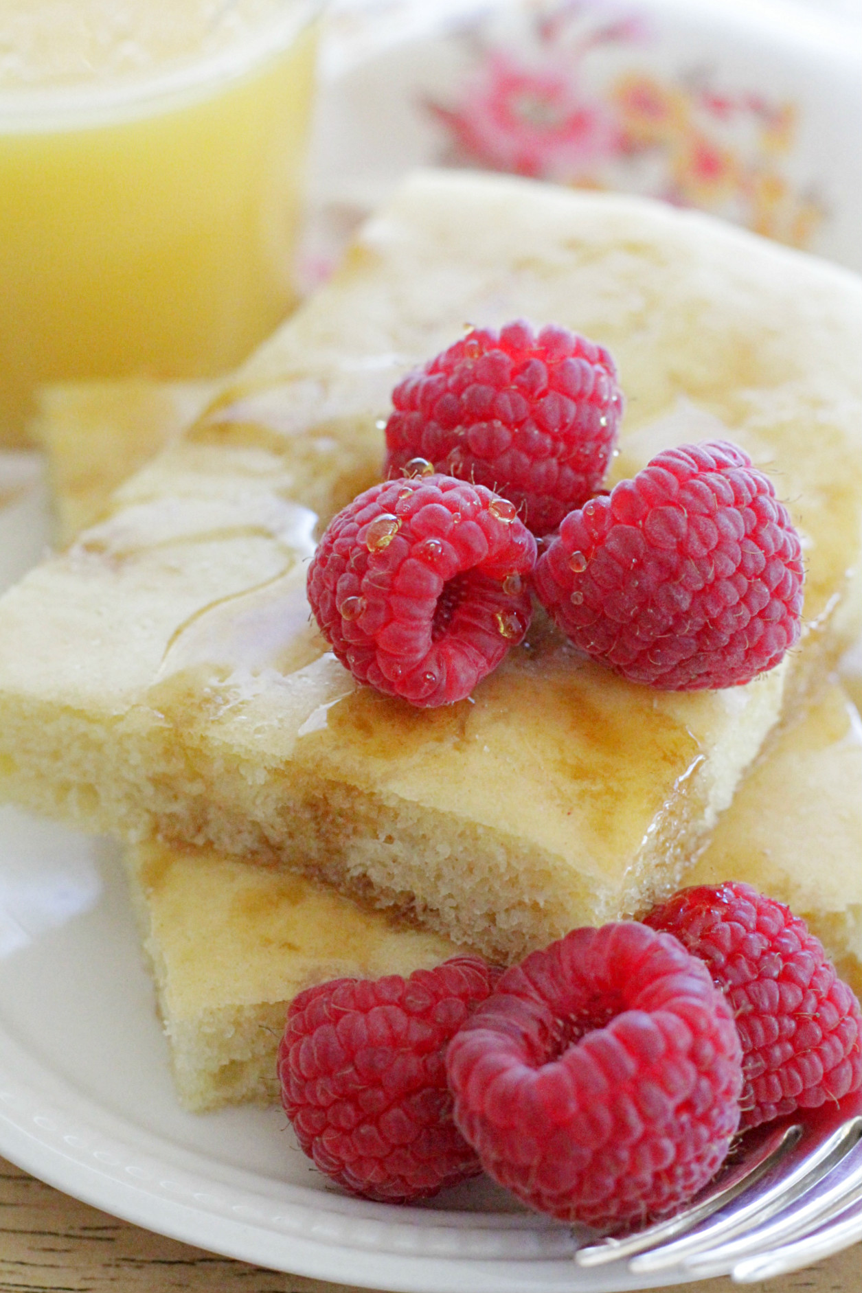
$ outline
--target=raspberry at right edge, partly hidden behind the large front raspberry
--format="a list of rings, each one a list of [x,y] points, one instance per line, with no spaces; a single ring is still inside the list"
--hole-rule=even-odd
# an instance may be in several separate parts
[[[707,962],[736,1016],[743,1127],[862,1086],[859,1003],[822,943],[749,884],[682,890],[646,917]]]

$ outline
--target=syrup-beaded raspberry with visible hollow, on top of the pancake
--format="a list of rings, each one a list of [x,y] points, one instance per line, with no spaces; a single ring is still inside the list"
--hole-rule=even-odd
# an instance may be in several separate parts
[[[448,476],[386,481],[330,522],[308,572],[326,640],[413,705],[469,696],[529,626],[536,540],[514,506]]]

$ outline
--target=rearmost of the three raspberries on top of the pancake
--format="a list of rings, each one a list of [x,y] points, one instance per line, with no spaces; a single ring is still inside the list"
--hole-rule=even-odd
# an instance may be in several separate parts
[[[533,534],[601,487],[623,415],[616,366],[563,327],[478,328],[392,392],[386,471],[425,458],[511,502]]]

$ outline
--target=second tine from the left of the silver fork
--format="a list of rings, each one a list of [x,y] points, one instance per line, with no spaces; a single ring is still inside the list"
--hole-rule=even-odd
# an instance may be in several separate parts
[[[717,1241],[726,1243],[753,1222],[762,1224],[783,1212],[795,1199],[812,1188],[857,1143],[862,1117],[852,1117],[836,1129],[824,1118],[804,1125],[799,1143],[764,1174],[762,1182],[742,1195],[735,1206],[725,1208],[682,1239],[633,1258],[629,1268],[638,1274],[667,1270],[695,1256],[705,1254]],[[784,1170],[790,1165],[790,1170]],[[725,1267],[726,1268],[726,1267]]]

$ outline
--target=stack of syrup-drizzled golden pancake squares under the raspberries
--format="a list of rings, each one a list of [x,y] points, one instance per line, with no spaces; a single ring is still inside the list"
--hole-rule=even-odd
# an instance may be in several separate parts
[[[421,710],[327,650],[307,560],[381,478],[392,387],[515,318],[611,349],[610,484],[716,438],[774,480],[806,560],[778,668],[652,690],[537,610],[469,700]],[[834,680],[862,628],[859,353],[849,272],[634,198],[422,172],[232,378],[45,393],[66,546],[0,601],[0,793],[124,843],[186,1107],[277,1100],[312,983],[511,963],[707,879],[788,903],[859,992],[862,742]]]

